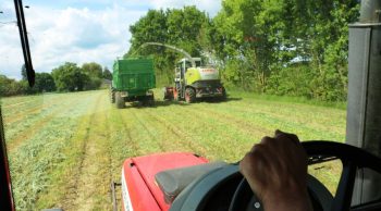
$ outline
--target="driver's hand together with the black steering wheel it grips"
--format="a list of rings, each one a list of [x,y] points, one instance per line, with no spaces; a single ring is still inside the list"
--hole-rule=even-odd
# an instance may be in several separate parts
[[[337,158],[343,163],[335,197],[325,203],[324,211],[349,210],[357,169],[381,173],[381,159],[362,149],[332,141],[300,144],[295,135],[275,132],[274,138],[265,137],[241,161],[241,172],[247,181],[244,178],[237,187],[230,210],[248,210],[245,208],[253,206],[243,204],[258,199],[262,200],[266,211],[312,210],[307,194],[306,163],[323,158]]]

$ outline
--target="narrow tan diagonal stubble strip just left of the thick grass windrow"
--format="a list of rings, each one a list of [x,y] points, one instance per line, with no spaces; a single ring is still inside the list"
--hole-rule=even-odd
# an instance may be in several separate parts
[[[66,101],[67,103],[63,104],[62,107],[58,107],[52,111],[52,113],[45,116],[42,120],[37,122],[32,122],[29,125],[22,131],[22,133],[17,134],[16,137],[7,137],[7,148],[10,153],[12,151],[16,150],[20,145],[25,141],[27,138],[33,137],[35,134],[37,134],[47,123],[49,123],[54,116],[59,115],[60,113],[67,111],[71,109],[71,107],[66,107],[67,104],[71,104],[73,101],[76,101],[77,99],[73,98],[71,101]],[[32,127],[33,126],[33,127]]]

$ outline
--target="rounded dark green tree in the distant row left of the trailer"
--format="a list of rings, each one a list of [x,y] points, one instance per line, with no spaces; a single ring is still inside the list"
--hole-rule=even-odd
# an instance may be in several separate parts
[[[52,70],[51,75],[59,91],[81,91],[84,90],[85,85],[89,82],[88,75],[84,74],[75,63],[71,62]]]

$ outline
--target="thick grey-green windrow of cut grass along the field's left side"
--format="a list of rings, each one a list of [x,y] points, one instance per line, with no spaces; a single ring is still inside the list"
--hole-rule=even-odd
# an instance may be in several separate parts
[[[67,159],[63,153],[67,140],[77,127],[76,117],[86,113],[88,98],[78,101],[79,108],[62,111],[44,128],[32,136],[16,151],[10,153],[10,166],[16,207],[20,210],[36,210],[39,194],[49,189],[54,181],[50,173]],[[62,175],[61,175],[62,176]]]

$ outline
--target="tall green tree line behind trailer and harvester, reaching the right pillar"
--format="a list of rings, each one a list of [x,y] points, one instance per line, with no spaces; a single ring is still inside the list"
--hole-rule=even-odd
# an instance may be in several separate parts
[[[214,17],[196,7],[150,10],[130,27],[133,57],[147,41],[183,48],[220,70],[223,83],[248,91],[346,100],[348,24],[357,0],[224,0]],[[159,85],[172,84],[182,55],[162,47],[153,55]]]

